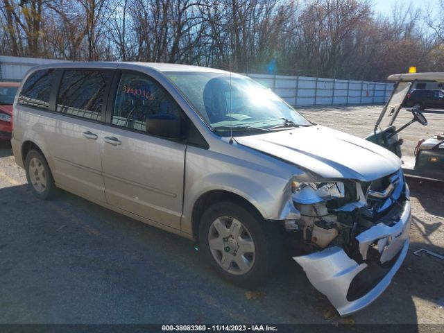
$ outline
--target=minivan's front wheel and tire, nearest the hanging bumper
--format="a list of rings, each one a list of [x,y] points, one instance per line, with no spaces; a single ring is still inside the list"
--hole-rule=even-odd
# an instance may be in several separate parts
[[[242,287],[257,287],[280,263],[278,225],[237,203],[208,207],[198,236],[207,262],[222,278]]]

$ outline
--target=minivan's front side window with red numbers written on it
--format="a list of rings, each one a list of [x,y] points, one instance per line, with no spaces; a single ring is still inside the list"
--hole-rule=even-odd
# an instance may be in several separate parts
[[[180,108],[153,79],[123,73],[117,88],[112,124],[146,132],[153,117],[180,119]]]

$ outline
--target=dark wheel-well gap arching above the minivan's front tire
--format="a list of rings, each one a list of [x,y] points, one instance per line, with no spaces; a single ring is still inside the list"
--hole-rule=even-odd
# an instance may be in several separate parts
[[[257,208],[250,203],[245,198],[239,196],[238,194],[234,194],[230,191],[223,191],[223,190],[214,190],[209,191],[196,201],[193,207],[193,212],[191,215],[191,223],[193,228],[193,234],[195,237],[198,237],[198,229],[199,229],[199,223],[200,223],[200,217],[202,216],[203,212],[205,212],[205,209],[212,205],[213,203],[222,202],[222,201],[230,201],[232,203],[237,203],[238,205],[242,205],[244,208],[250,210],[253,214],[257,214],[257,216],[260,216],[262,218],[262,214],[257,210]]]

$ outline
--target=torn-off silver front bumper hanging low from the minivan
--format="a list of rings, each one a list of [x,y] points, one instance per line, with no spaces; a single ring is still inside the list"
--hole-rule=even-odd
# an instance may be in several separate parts
[[[370,305],[391,283],[409,249],[410,220],[410,201],[407,200],[399,221],[390,226],[378,223],[356,237],[364,259],[368,246],[377,243],[381,254],[377,264],[358,264],[338,246],[293,259],[339,314],[348,316]]]

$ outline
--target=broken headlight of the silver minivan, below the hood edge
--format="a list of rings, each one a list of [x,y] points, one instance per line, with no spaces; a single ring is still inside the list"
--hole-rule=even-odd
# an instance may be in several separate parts
[[[325,200],[343,198],[343,182],[291,182],[293,200],[303,205],[319,203]]]

